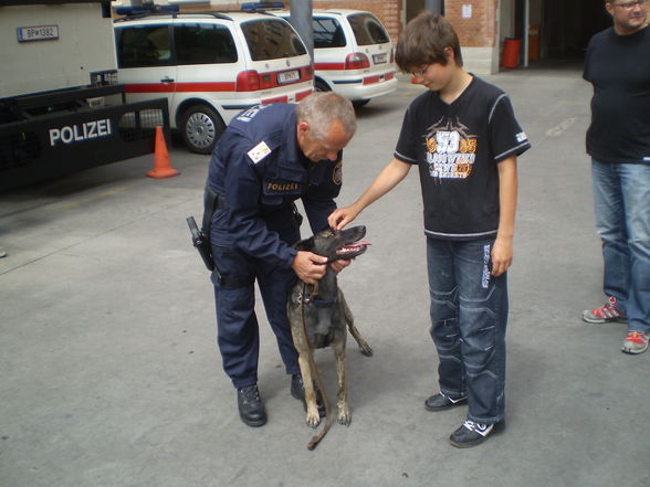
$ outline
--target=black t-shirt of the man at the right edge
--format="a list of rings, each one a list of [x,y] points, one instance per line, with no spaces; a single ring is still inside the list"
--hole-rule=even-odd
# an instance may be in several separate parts
[[[594,35],[583,77],[594,85],[587,152],[600,162],[650,163],[650,28]]]

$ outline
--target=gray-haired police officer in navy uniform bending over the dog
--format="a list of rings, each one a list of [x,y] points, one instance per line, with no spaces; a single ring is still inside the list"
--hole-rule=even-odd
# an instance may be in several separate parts
[[[209,235],[218,343],[223,370],[238,391],[240,417],[249,426],[266,423],[258,390],[253,284],[292,375],[291,394],[304,401],[286,299],[296,275],[314,284],[327,260],[291,246],[300,240],[302,220],[294,201],[302,199],[314,233],[328,226],[340,190],[342,149],[355,129],[349,100],[314,93],[298,105],[260,105],[241,113],[212,152],[206,207],[213,207]],[[331,265],[340,271],[347,264]]]

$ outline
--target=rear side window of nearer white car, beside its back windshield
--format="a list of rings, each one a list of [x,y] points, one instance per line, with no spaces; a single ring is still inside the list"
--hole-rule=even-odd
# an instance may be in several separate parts
[[[184,23],[174,27],[178,64],[237,62],[237,47],[230,30],[212,23]]]

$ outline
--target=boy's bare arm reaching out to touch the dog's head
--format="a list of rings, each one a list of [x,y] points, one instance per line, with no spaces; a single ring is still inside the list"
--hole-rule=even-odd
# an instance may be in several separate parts
[[[329,215],[327,219],[329,226],[336,230],[343,229],[356,219],[366,207],[381,198],[406,178],[411,166],[410,163],[392,158],[357,201],[349,207],[335,210]]]

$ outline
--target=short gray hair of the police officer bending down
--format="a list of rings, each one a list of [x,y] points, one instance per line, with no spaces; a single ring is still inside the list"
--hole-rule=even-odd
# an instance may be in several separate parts
[[[304,98],[296,109],[297,121],[310,124],[311,136],[325,139],[327,129],[334,120],[340,121],[346,135],[353,136],[357,129],[355,109],[349,99],[334,92],[313,93]]]

